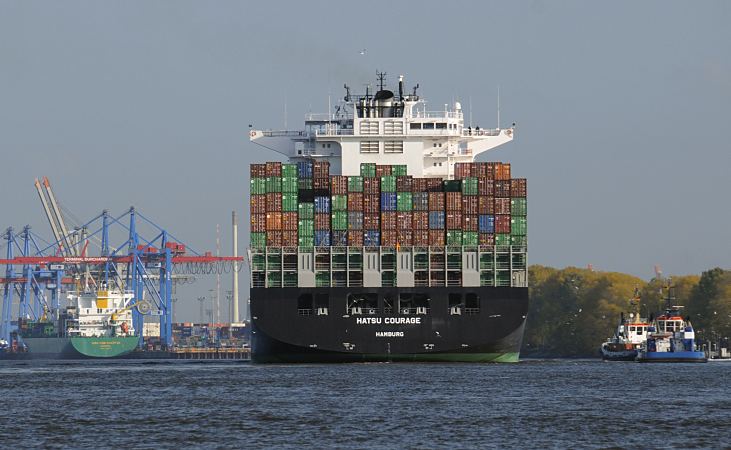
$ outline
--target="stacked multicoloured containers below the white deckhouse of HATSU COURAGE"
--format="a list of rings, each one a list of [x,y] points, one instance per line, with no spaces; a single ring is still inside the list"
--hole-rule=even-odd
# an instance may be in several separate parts
[[[412,178],[404,165],[326,161],[251,165],[251,246],[526,245],[527,187],[510,164],[457,163],[455,179]]]

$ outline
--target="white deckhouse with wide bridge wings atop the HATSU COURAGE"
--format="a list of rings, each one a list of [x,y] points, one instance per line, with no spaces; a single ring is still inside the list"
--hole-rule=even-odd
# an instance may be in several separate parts
[[[304,130],[254,130],[249,138],[292,161],[316,158],[330,162],[331,173],[358,175],[361,163],[406,164],[415,177],[454,176],[455,163],[472,162],[480,153],[510,142],[515,127],[485,129],[464,123],[459,102],[429,111],[417,95],[419,85],[404,93],[399,76],[398,96],[385,89],[346,95],[335,111],[307,114]],[[515,124],[513,124],[515,125]]]

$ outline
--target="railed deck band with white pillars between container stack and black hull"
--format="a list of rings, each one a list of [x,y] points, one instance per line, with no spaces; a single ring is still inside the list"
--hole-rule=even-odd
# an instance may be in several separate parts
[[[518,245],[249,251],[253,288],[528,286],[527,248]]]

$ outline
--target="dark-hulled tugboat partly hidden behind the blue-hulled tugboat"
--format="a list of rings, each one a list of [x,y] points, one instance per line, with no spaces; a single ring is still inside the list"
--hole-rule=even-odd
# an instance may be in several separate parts
[[[601,346],[602,359],[605,361],[634,361],[637,353],[647,340],[647,320],[640,317],[640,294],[635,289],[635,295],[629,300],[629,319],[624,313],[620,314],[619,324],[614,336],[607,339]]]

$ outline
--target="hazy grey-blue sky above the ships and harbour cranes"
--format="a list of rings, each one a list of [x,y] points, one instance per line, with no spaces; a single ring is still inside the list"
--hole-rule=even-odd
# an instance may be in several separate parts
[[[201,250],[220,223],[230,251],[236,209],[243,250],[248,164],[277,158],[248,124],[281,128],[286,99],[300,126],[383,70],[481,126],[500,86],[518,131],[482,158],[528,178],[531,263],[729,268],[729,23],[725,1],[0,0],[0,228],[50,237],[46,175],[79,218],[135,205]]]

